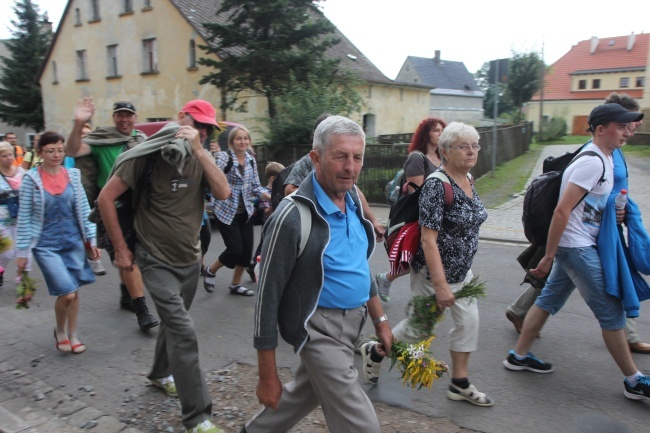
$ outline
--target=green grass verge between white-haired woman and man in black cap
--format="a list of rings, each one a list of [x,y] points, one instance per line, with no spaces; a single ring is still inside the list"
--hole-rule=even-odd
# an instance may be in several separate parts
[[[488,209],[495,208],[521,192],[541,152],[541,145],[532,144],[527,153],[498,166],[494,176],[488,173],[477,179],[476,192],[483,205]]]

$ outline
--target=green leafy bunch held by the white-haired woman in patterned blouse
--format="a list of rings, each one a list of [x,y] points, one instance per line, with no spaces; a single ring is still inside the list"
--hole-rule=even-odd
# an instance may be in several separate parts
[[[454,292],[455,299],[478,297],[485,297],[485,281],[479,281],[477,275],[459,291]],[[406,306],[407,315],[409,309],[412,310],[409,326],[423,339],[433,335],[433,329],[445,317],[444,311],[438,308],[436,295],[414,296]]]

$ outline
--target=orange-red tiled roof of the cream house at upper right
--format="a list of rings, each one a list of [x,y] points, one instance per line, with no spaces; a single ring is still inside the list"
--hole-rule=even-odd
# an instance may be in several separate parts
[[[634,35],[634,45],[627,49],[630,36],[615,36],[599,38],[598,46],[593,53],[591,39],[580,41],[571,47],[568,53],[551,65],[546,74],[544,100],[566,99],[604,99],[612,91],[620,89],[599,89],[594,91],[571,91],[571,74],[578,71],[613,70],[628,68],[643,68],[648,61],[648,44],[650,34]],[[633,98],[643,97],[643,88],[625,89],[625,93]],[[533,100],[539,100],[539,93]]]

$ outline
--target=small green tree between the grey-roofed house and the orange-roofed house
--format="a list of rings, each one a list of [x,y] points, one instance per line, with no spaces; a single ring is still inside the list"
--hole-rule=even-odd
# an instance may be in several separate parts
[[[534,51],[513,53],[508,73],[507,95],[517,109],[515,121],[521,120],[521,109],[541,86],[544,61]]]

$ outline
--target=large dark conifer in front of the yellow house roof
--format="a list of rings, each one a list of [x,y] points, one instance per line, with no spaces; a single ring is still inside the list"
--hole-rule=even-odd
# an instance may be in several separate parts
[[[290,89],[293,76],[334,77],[339,60],[326,55],[339,40],[334,26],[318,5],[324,0],[224,0],[213,23],[204,23],[210,36],[200,46],[214,58],[198,63],[214,68],[200,84],[221,89],[221,108],[237,108],[242,91],[267,99],[269,117],[277,114],[276,102]]]

